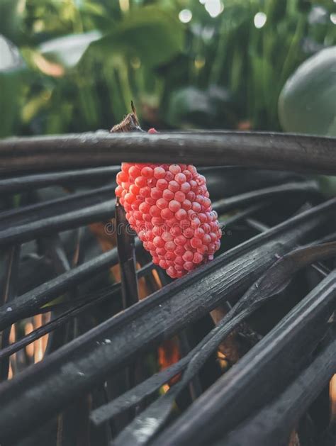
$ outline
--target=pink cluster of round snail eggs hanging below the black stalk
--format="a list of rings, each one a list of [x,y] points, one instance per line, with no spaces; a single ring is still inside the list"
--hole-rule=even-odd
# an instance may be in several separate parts
[[[170,277],[213,260],[221,230],[206,179],[194,166],[123,162],[117,184],[130,227]]]

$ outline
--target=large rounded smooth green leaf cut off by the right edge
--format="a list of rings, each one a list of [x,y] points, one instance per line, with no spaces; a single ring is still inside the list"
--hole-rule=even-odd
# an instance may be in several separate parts
[[[336,136],[336,47],[310,57],[288,79],[279,98],[288,132]]]

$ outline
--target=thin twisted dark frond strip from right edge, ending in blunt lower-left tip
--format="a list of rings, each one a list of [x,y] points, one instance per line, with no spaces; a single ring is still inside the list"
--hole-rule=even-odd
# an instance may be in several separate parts
[[[203,342],[201,342],[189,355],[182,358],[177,364],[169,367],[169,369],[166,369],[159,374],[155,374],[147,379],[147,381],[142,382],[136,386],[133,391],[127,392],[115,401],[111,401],[111,403],[108,403],[106,406],[101,406],[96,409],[91,416],[94,423],[103,423],[108,420],[108,418],[115,416],[119,411],[135,406],[141,398],[145,398],[145,396],[152,394],[159,388],[159,386],[162,386],[162,384],[167,382],[175,374],[181,372],[181,370],[183,370],[190,362],[183,380],[173,388],[172,393],[175,394],[176,389],[179,387],[181,388],[183,384],[186,384],[188,379],[190,379],[190,375],[196,373],[196,369],[203,365],[203,362],[211,353],[213,347],[217,347],[220,340],[225,338],[236,325],[239,325],[241,320],[249,317],[260,305],[264,304],[269,299],[274,299],[274,297],[278,296],[281,290],[288,284],[289,277],[296,274],[298,269],[305,267],[313,261],[323,260],[325,256],[335,256],[335,250],[336,245],[335,243],[332,243],[301,248],[281,257],[280,260],[274,263],[264,274],[262,274],[262,277],[260,277],[252,287],[247,290],[244,296],[237,301],[235,306],[233,306],[218,326],[213,329],[212,332],[203,339]],[[325,277],[325,275],[325,273],[321,273],[322,277]],[[195,359],[198,364],[195,364]],[[176,394],[174,395],[174,398],[175,396]],[[174,398],[172,398],[172,401],[174,401]],[[158,411],[159,407],[155,407],[155,416],[157,416]],[[144,415],[150,416],[149,414]],[[156,426],[159,427],[157,423]]]

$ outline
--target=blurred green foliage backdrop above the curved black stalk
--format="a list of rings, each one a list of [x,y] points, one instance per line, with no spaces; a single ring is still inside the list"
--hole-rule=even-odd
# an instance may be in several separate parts
[[[131,99],[144,126],[279,130],[286,79],[336,43],[336,4],[223,6],[212,18],[198,0],[0,0],[0,136],[111,128]]]

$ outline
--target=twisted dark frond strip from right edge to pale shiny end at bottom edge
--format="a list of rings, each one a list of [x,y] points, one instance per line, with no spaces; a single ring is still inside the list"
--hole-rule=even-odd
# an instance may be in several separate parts
[[[278,262],[274,263],[250,288],[244,296],[233,306],[233,308],[218,323],[216,328],[209,333],[206,338],[194,349],[189,355],[189,364],[186,367],[184,375],[175,386],[164,394],[162,398],[155,401],[140,416],[135,418],[133,423],[128,425],[126,430],[116,439],[116,445],[138,444],[138,439],[134,435],[135,432],[145,425],[147,419],[151,419],[151,426],[147,427],[146,433],[142,433],[141,442],[150,440],[157,430],[167,420],[175,399],[179,396],[184,386],[194,377],[203,366],[206,359],[218,347],[220,342],[228,336],[228,334],[237,327],[238,324],[251,316],[251,314],[262,304],[284,289],[289,279],[298,269],[308,264],[323,260],[326,257],[334,257],[336,255],[336,243],[320,245],[317,247],[301,248],[289,254],[284,255]],[[147,435],[147,439],[145,439]]]

